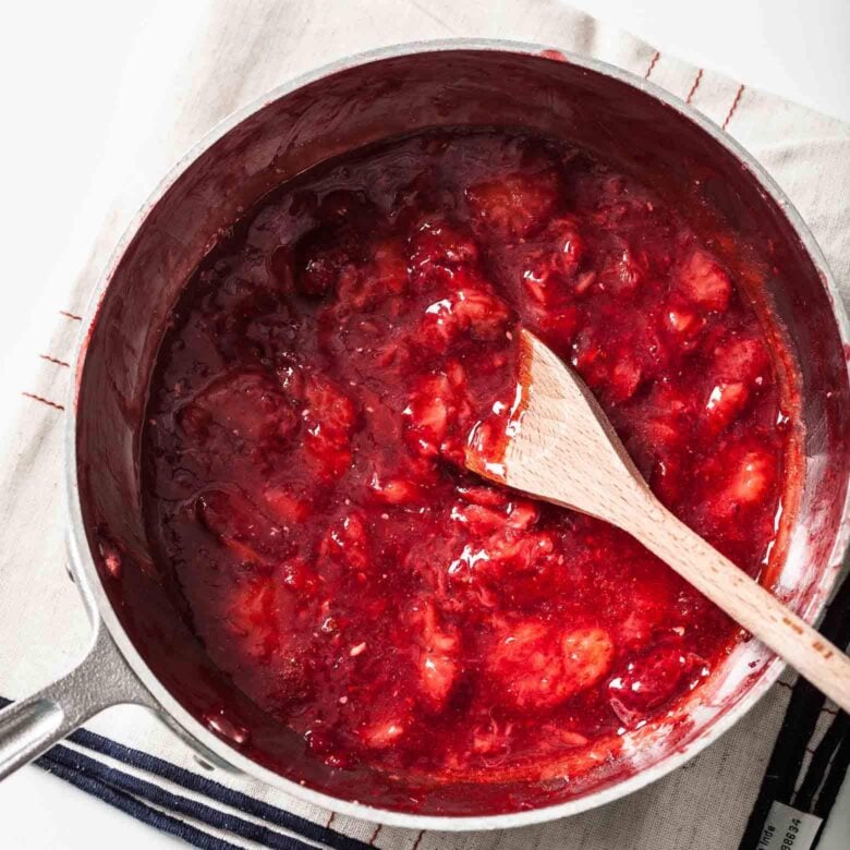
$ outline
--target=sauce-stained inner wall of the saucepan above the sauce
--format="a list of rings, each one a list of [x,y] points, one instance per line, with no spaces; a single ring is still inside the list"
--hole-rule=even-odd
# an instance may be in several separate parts
[[[797,354],[803,402],[802,490],[777,576],[799,611],[819,604],[828,587],[850,471],[845,352],[821,271],[752,171],[651,94],[578,64],[525,53],[422,52],[311,83],[219,138],[148,212],[112,274],[92,329],[76,437],[88,544],[121,627],[154,676],[199,722],[259,764],[286,761],[284,775],[294,782],[421,814],[479,815],[588,796],[708,732],[757,685],[768,660],[757,647],[741,645],[717,677],[711,707],[694,708],[677,734],[643,730],[631,741],[635,756],[628,764],[600,764],[580,781],[416,788],[384,776],[364,782],[311,758],[303,740],[233,693],[186,627],[173,582],[154,566],[142,520],[138,435],[170,309],[218,235],[282,181],[345,151],[428,127],[494,125],[576,143],[653,182],[700,174],[729,226],[769,251],[781,274],[768,280],[767,295]],[[240,742],[243,725],[252,729],[250,742]]]

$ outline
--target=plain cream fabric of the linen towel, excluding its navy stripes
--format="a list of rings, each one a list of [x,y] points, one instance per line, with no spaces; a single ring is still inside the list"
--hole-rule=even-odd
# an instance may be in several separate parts
[[[175,74],[174,97],[149,120],[158,144],[134,165],[90,260],[56,305],[32,396],[63,404],[81,315],[111,246],[170,165],[217,121],[276,84],[342,56],[393,42],[450,36],[544,42],[648,76],[721,125],[789,194],[850,293],[850,127],[738,81],[658,53],[653,47],[555,0],[425,4],[392,0],[211,3],[208,26]],[[10,403],[9,400],[7,403]],[[70,669],[88,623],[65,575],[63,416],[32,397],[0,462],[0,694],[21,696]],[[552,824],[493,834],[426,833],[333,817],[333,828],[379,848],[562,848],[563,850],[731,850],[737,848],[788,701],[779,683],[700,756],[663,780],[603,809]],[[823,719],[823,718],[822,718]],[[202,773],[193,753],[139,708],[116,708],[89,728]],[[327,824],[331,814],[245,777],[219,772],[223,785]],[[215,831],[215,830],[209,830]],[[226,837],[224,834],[221,834]],[[243,847],[247,841],[227,836]]]

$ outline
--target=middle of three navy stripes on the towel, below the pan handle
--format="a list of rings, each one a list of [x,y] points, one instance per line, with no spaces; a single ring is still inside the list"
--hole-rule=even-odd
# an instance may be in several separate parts
[[[268,827],[243,821],[241,817],[219,812],[204,803],[173,794],[157,785],[146,782],[144,779],[130,776],[95,758],[74,752],[68,746],[54,746],[48,757],[70,770],[93,776],[120,792],[142,797],[154,805],[168,809],[174,814],[202,821],[216,829],[229,831],[240,838],[260,842],[271,850],[312,850],[308,845],[291,836],[275,833]]]

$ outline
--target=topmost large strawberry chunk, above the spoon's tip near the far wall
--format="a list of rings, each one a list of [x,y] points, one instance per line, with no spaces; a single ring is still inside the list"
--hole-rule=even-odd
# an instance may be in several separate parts
[[[509,174],[466,191],[474,218],[507,239],[523,239],[542,228],[560,203],[558,177],[552,170]]]

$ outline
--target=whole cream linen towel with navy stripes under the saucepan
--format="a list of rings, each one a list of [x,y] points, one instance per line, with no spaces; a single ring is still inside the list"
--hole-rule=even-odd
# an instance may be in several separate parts
[[[619,65],[687,100],[765,166],[814,231],[850,301],[850,127],[839,121],[681,62],[555,0],[211,0],[207,21],[174,75],[173,97],[149,116],[151,144],[141,159],[127,162],[126,183],[88,263],[64,301],[45,314],[44,336],[33,340],[29,352],[41,356],[41,367],[14,400],[17,424],[0,461],[0,694],[5,697],[25,695],[70,669],[86,645],[89,627],[64,566],[62,435],[69,363],[88,295],[118,236],[180,155],[228,113],[295,74],[365,49],[451,36],[535,41]],[[842,615],[836,619],[846,623],[846,607]],[[61,640],[45,641],[46,634]],[[502,833],[380,827],[333,816],[236,774],[209,774],[161,721],[136,707],[104,713],[40,764],[205,848],[755,848],[774,800],[825,814],[843,776],[840,765],[850,757],[847,718],[805,692],[807,685],[793,691],[793,681],[786,673],[719,741],[648,788],[569,819]],[[789,725],[782,730],[787,709]],[[776,746],[780,730],[785,738]],[[774,818],[787,815],[776,812]],[[824,848],[839,846],[830,828],[823,834]]]

